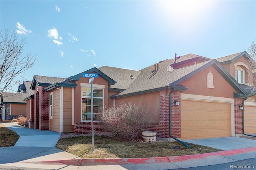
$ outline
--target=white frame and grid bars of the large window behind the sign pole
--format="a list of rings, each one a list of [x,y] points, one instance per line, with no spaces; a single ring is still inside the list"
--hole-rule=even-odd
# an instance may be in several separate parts
[[[82,86],[83,84],[83,86]],[[90,84],[87,83],[81,83],[81,122],[91,122],[91,120],[83,120],[83,99],[92,99],[91,96],[83,96],[83,87],[90,88]],[[93,99],[102,99],[102,113],[97,113],[97,114],[103,114],[104,111],[104,85],[93,85],[93,90],[94,89],[101,89],[102,90],[102,97],[93,97]],[[91,92],[91,91],[90,91]],[[90,111],[91,112],[91,111]],[[88,112],[89,113],[89,112]],[[92,113],[91,113],[92,114]],[[92,114],[93,115],[93,114]],[[91,115],[91,117],[92,117]],[[94,120],[94,122],[98,122],[98,120]]]

